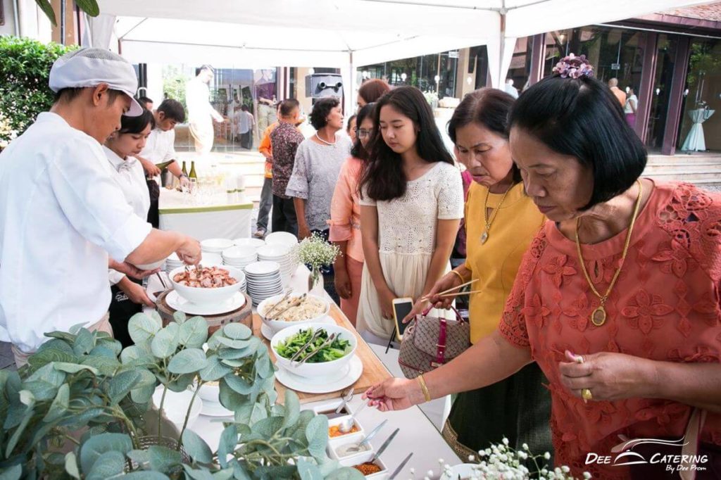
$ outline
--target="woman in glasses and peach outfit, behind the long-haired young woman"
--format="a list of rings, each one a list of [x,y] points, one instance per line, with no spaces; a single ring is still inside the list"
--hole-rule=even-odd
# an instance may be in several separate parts
[[[340,296],[340,309],[355,326],[363,276],[363,244],[361,241],[361,207],[358,205],[358,178],[368,159],[366,145],[373,133],[373,105],[361,108],[355,119],[355,136],[350,158],[340,169],[330,204],[329,240],[340,247],[333,265],[335,291]]]

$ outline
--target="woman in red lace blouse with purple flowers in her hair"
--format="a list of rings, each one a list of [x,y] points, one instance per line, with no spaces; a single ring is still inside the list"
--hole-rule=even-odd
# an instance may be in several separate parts
[[[536,362],[555,461],[575,476],[721,478],[721,195],[640,178],[645,149],[588,70],[566,58],[513,107],[511,153],[550,221],[498,330],[420,381],[366,395],[402,409]],[[641,438],[685,440],[624,445]]]

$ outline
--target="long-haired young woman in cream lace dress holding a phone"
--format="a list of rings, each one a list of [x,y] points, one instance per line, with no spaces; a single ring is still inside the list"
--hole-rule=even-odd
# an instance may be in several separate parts
[[[357,328],[371,341],[393,334],[394,298],[420,298],[451,269],[463,218],[461,173],[420,90],[381,97],[374,124],[358,202],[366,266]]]

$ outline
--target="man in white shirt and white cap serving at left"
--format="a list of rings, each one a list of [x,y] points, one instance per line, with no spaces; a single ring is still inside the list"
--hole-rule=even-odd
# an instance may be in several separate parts
[[[50,69],[50,112],[0,154],[0,340],[12,342],[18,368],[47,332],[84,323],[112,333],[108,267],[141,277],[150,272],[133,265],[172,252],[200,260],[198,241],[151,228],[112,179],[101,143],[123,113],[143,111],[137,88],[120,55],[66,53]]]

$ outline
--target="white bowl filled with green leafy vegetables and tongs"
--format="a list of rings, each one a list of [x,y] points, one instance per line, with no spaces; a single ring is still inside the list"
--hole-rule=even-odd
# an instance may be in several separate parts
[[[330,340],[332,335],[335,337]],[[298,324],[273,335],[270,347],[275,354],[275,365],[301,377],[318,378],[339,374],[353,358],[358,340],[342,326]],[[297,360],[291,362],[296,354]]]

